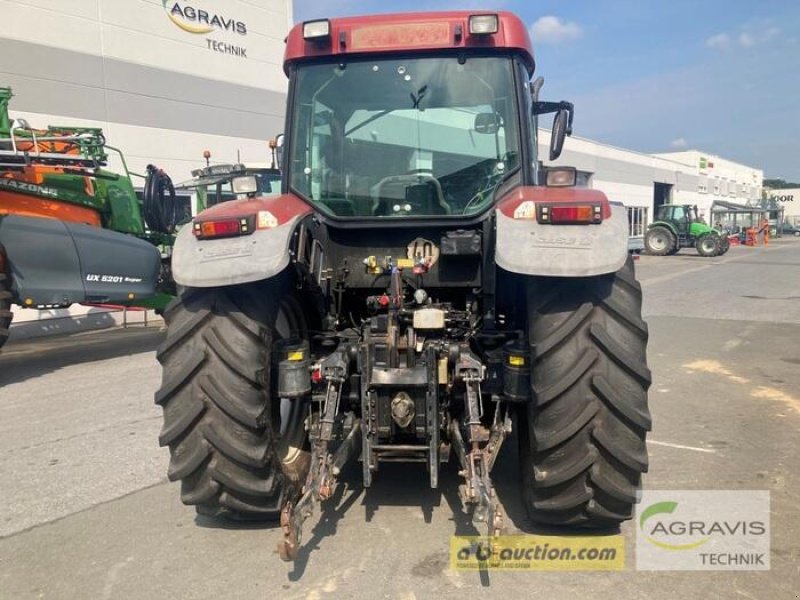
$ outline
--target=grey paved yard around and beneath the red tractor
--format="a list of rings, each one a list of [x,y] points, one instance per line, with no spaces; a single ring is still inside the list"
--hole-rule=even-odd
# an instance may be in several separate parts
[[[464,573],[455,497],[414,468],[347,486],[289,566],[274,528],[196,519],[164,478],[157,329],[9,344],[0,356],[0,598],[794,598],[800,589],[800,241],[643,257],[653,489],[769,489],[770,572]],[[497,473],[515,525],[530,526]],[[316,522],[316,521],[315,521]],[[335,534],[335,535],[334,535]]]

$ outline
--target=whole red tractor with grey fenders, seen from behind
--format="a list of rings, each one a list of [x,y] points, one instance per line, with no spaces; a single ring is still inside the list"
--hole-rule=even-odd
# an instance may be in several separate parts
[[[573,107],[539,100],[509,13],[311,21],[286,41],[282,194],[181,230],[159,349],[160,442],[204,515],[280,519],[284,559],[360,456],[439,485],[450,451],[490,534],[509,433],[531,518],[631,517],[650,430],[625,208],[544,168]]]

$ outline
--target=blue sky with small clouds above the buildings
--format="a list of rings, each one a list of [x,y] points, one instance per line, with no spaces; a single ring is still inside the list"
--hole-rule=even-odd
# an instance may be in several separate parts
[[[575,135],[699,149],[800,181],[796,0],[294,0],[298,22],[451,9],[528,24],[540,97],[575,103]]]

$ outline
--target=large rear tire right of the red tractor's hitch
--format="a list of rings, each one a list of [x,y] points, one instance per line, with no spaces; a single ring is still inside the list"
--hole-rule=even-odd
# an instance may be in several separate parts
[[[528,290],[533,402],[521,419],[523,499],[532,520],[582,528],[631,518],[647,471],[647,325],[633,261]]]

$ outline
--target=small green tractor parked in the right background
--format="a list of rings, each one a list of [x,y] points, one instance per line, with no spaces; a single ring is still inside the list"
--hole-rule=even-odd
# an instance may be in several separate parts
[[[696,248],[700,256],[720,256],[730,248],[725,233],[707,225],[692,204],[664,204],[644,236],[648,254],[671,256],[681,248]]]

